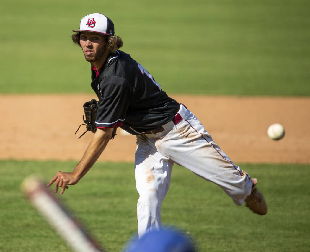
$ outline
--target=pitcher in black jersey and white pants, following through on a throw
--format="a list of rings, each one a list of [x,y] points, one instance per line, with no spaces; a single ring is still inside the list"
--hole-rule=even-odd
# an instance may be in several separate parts
[[[137,137],[139,237],[161,228],[162,201],[174,164],[217,184],[238,206],[246,201],[253,212],[267,213],[257,179],[229,159],[184,104],[171,99],[141,64],[119,50],[123,42],[108,17],[86,15],[73,32],[73,42],[91,62],[91,87],[99,99],[97,130],[73,172],[58,172],[47,186],[55,182],[55,192],[61,188],[63,194],[68,185],[78,183],[104,151],[113,129],[120,127]]]

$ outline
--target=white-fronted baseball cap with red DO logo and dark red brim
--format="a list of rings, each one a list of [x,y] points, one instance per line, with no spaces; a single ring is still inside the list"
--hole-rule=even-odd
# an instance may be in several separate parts
[[[105,15],[101,13],[89,14],[82,18],[80,29],[72,30],[73,32],[95,32],[104,35],[114,35],[114,24]]]

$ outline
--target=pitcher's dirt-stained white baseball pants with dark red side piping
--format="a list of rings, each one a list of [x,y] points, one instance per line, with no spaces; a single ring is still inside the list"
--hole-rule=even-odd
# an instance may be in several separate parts
[[[137,136],[135,181],[138,233],[161,228],[161,207],[170,186],[174,164],[184,166],[213,182],[241,206],[250,195],[250,176],[240,170],[206,132],[201,122],[184,105],[178,114],[182,120],[170,121],[157,134]]]

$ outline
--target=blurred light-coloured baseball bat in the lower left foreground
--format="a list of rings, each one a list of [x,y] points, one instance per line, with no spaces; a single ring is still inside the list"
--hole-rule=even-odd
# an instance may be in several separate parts
[[[98,242],[85,231],[77,219],[60,203],[42,179],[29,176],[21,183],[22,192],[28,197],[47,222],[76,252],[104,252]]]

